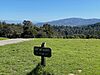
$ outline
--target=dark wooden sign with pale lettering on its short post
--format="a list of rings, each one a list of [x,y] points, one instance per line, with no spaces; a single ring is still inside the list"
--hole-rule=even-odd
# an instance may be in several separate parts
[[[45,57],[51,57],[51,48],[44,47],[45,42],[41,44],[41,47],[34,47],[34,55],[41,56],[41,65],[46,66]]]

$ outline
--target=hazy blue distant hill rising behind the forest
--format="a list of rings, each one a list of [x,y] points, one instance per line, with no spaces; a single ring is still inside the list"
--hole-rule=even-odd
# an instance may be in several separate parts
[[[67,26],[81,26],[81,25],[89,25],[89,24],[95,24],[97,22],[100,22],[100,19],[83,19],[83,18],[67,18],[67,19],[60,19],[50,22],[43,22],[43,23],[37,23],[38,26],[41,26],[45,23],[51,24],[51,25],[67,25]]]

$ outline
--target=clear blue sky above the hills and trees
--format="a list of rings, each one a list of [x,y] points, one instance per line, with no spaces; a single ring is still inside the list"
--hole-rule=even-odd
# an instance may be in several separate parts
[[[0,20],[100,18],[100,0],[0,0]]]

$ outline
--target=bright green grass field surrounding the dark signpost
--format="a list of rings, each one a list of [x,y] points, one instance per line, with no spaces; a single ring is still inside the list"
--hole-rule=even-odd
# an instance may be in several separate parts
[[[52,48],[52,57],[46,58],[49,72],[54,75],[100,75],[99,39],[34,39],[0,46],[0,75],[27,75],[40,62],[40,57],[33,55],[33,47],[44,41]]]

